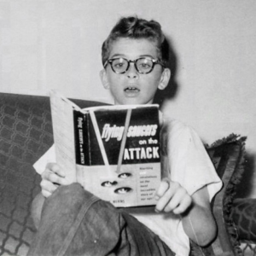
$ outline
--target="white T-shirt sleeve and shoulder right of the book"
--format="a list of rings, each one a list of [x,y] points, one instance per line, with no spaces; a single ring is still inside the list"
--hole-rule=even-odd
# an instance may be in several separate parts
[[[222,188],[222,181],[200,137],[177,120],[165,120],[164,126],[170,178],[180,183],[189,195],[207,186],[211,201]]]

